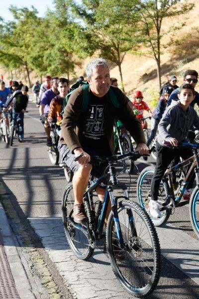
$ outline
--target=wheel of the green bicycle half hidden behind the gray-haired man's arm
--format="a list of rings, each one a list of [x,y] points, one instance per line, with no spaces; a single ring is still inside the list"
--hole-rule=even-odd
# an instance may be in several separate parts
[[[123,134],[122,135],[122,153],[128,153],[128,152],[132,152],[133,151],[133,146],[130,140],[130,137],[127,134]],[[134,168],[134,162],[130,159],[124,159],[123,163],[125,164],[125,172],[126,173],[132,173],[133,172],[133,168]]]

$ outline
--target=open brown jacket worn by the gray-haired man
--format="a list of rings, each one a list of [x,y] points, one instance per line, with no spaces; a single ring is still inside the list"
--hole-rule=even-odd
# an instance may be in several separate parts
[[[137,144],[145,143],[141,123],[136,119],[132,109],[129,107],[128,99],[117,87],[111,86],[110,88],[114,91],[120,104],[119,108],[116,108],[106,94],[107,101],[104,105],[104,122],[111,152],[114,152],[113,125],[115,117],[124,124],[124,127],[129,131]],[[74,149],[81,148],[81,142],[84,138],[84,124],[89,112],[89,105],[86,111],[81,112],[82,101],[83,89],[80,86],[71,94],[63,114],[60,142],[67,144],[72,152]]]

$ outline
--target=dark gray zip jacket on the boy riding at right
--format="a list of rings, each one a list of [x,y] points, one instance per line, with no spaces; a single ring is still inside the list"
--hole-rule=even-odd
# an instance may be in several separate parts
[[[164,141],[176,138],[183,141],[192,126],[199,130],[199,117],[192,106],[184,111],[180,101],[172,101],[158,125],[158,143],[165,147]]]

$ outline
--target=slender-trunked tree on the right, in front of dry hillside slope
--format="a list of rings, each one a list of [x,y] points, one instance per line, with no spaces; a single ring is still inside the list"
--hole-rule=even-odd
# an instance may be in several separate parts
[[[163,19],[185,14],[194,7],[194,4],[188,3],[188,1],[180,2],[181,0],[140,0],[136,5],[137,12],[140,13],[141,17],[137,19],[135,37],[137,42],[145,46],[145,55],[151,55],[156,61],[159,88],[161,88],[161,41],[165,34],[171,32],[171,28],[167,32],[163,31]],[[133,19],[126,17],[125,21],[128,25],[131,22],[134,25]],[[182,25],[180,24],[179,27]]]

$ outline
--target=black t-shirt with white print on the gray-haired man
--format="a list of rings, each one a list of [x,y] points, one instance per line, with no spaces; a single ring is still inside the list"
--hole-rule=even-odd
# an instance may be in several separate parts
[[[104,125],[105,101],[106,97],[99,98],[91,93],[83,140],[83,149],[91,155],[111,155]]]

